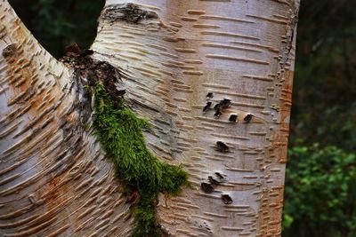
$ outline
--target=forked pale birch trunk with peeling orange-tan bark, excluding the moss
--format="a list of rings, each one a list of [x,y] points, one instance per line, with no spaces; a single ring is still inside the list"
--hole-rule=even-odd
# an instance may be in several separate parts
[[[107,0],[93,58],[125,72],[125,99],[153,124],[147,145],[190,174],[192,187],[160,197],[168,233],[280,235],[298,7]],[[79,128],[88,111],[73,69],[7,1],[0,9],[0,235],[129,235],[113,165]],[[207,194],[209,177],[221,183]]]

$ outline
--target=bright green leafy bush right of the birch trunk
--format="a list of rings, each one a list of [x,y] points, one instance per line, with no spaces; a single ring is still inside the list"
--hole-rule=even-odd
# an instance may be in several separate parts
[[[336,146],[289,150],[284,236],[356,236],[356,155]]]

